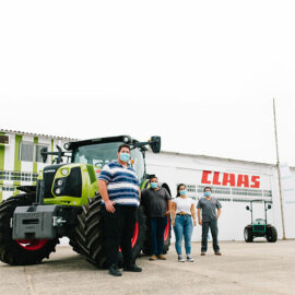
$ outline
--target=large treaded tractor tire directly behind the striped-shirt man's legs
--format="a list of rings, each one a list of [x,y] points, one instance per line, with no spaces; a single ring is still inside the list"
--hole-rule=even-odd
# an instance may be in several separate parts
[[[145,239],[145,214],[142,206],[138,210],[138,221],[133,237],[132,255],[135,259]],[[96,196],[90,198],[88,203],[83,205],[83,211],[78,215],[78,226],[75,227],[74,240],[80,252],[86,257],[87,261],[98,268],[107,267],[107,256],[104,248],[104,225],[102,214],[102,198]],[[138,229],[138,232],[137,232]],[[135,239],[135,240],[134,240]]]

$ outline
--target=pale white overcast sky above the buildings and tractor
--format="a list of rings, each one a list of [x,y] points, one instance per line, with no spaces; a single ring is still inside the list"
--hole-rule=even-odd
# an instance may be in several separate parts
[[[1,1],[0,128],[162,137],[295,166],[294,1]]]

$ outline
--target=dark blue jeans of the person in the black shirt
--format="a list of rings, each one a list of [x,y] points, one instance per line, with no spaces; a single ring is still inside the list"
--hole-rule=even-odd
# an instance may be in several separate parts
[[[152,255],[163,253],[164,234],[167,225],[167,217],[151,217],[151,248]]]

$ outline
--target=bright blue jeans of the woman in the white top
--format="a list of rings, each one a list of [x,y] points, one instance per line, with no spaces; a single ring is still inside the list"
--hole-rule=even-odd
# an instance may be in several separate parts
[[[178,255],[181,255],[181,241],[185,236],[186,253],[190,255],[191,251],[191,235],[192,235],[192,220],[189,215],[175,216],[175,249]]]

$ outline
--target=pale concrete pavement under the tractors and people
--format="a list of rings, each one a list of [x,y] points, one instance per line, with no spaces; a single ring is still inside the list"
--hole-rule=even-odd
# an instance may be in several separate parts
[[[211,248],[200,257],[200,243],[193,243],[196,262],[180,263],[173,245],[167,261],[141,257],[137,263],[142,273],[114,278],[70,247],[58,247],[38,266],[0,262],[0,294],[295,294],[295,240],[227,241],[221,243],[221,250],[222,257],[214,256]]]

